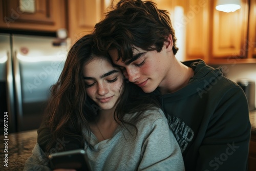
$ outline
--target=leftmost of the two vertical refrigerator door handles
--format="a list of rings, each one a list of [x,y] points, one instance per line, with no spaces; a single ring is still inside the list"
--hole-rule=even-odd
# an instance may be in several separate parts
[[[14,104],[14,89],[13,89],[13,72],[12,72],[12,58],[11,54],[7,52],[6,61],[6,80],[7,80],[7,109],[8,109],[8,120],[9,120],[9,132],[16,132],[16,121],[15,121],[15,104]]]

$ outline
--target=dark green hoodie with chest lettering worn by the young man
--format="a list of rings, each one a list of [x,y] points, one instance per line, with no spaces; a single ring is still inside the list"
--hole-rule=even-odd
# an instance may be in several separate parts
[[[160,95],[186,170],[246,170],[250,121],[246,96],[221,68],[186,61],[195,74],[181,90]]]

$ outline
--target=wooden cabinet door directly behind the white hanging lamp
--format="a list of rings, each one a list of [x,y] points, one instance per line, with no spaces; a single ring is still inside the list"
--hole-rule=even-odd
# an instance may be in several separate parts
[[[211,60],[216,58],[246,58],[248,1],[241,0],[241,9],[235,12],[216,10],[212,3]]]

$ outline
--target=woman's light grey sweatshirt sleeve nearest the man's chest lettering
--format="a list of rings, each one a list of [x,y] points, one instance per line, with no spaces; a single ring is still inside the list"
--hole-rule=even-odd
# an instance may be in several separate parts
[[[142,146],[138,170],[185,170],[181,150],[166,118],[157,119]]]

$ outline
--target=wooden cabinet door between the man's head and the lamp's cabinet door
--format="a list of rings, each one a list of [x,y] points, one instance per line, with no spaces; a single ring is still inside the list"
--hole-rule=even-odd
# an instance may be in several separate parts
[[[191,0],[186,4],[186,59],[208,62],[210,3]]]

